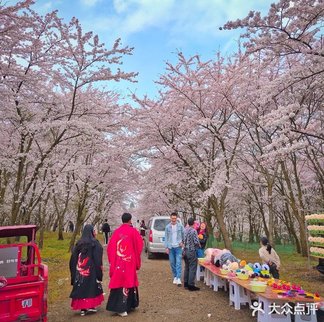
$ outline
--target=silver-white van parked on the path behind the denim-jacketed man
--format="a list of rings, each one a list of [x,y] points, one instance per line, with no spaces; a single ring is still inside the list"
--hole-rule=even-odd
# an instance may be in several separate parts
[[[181,222],[179,218],[177,221]],[[155,216],[148,221],[144,238],[144,250],[148,259],[153,258],[154,253],[165,253],[164,234],[169,222],[170,216]]]

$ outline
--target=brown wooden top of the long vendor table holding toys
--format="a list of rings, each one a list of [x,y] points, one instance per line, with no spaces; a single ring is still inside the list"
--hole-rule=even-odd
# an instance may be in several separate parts
[[[204,264],[204,263],[199,263],[201,266],[205,267],[206,269],[210,270],[212,273],[226,279],[226,280],[232,280],[234,282],[236,282],[237,284],[243,286],[244,288],[246,288],[247,290],[252,291],[251,286],[249,285],[249,283],[252,281],[252,279],[249,278],[249,280],[240,280],[237,277],[233,278],[233,277],[227,277],[226,275],[221,274],[220,272],[220,268],[216,267],[215,265],[211,265],[211,264]],[[264,281],[266,282],[269,279],[264,279]],[[276,283],[278,283],[278,280],[275,280]],[[255,292],[256,294],[263,296],[267,299],[271,299],[271,300],[283,300],[283,301],[287,301],[287,302],[321,302],[324,301],[324,298],[321,297],[319,300],[314,300],[314,299],[307,299],[304,296],[301,295],[296,295],[295,297],[285,297],[285,298],[278,298],[278,294],[277,292],[273,292],[273,288],[271,286],[267,286],[267,289],[270,290],[269,293],[259,293],[259,292]],[[285,292],[283,290],[283,292]]]

